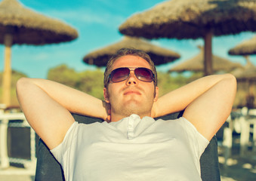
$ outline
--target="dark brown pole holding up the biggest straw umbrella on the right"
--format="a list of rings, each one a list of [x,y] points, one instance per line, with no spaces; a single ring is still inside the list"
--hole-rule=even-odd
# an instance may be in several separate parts
[[[213,74],[212,70],[212,52],[211,52],[211,38],[212,38],[212,32],[211,29],[207,29],[205,32],[205,50],[204,50],[204,73],[205,75],[211,75]]]

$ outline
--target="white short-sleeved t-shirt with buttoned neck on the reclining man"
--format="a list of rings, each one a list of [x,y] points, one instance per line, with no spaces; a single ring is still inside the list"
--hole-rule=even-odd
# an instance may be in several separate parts
[[[131,115],[117,122],[73,123],[54,157],[66,180],[202,180],[208,140],[187,119]]]

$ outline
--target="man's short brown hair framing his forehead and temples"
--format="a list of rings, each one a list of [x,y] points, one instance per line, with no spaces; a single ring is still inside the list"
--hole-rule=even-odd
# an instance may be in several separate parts
[[[109,61],[106,63],[106,69],[104,72],[104,87],[107,88],[107,85],[109,84],[109,74],[113,70],[112,69],[113,63],[116,60],[118,60],[120,57],[123,57],[125,55],[133,55],[133,56],[141,57],[150,64],[150,68],[151,68],[153,74],[155,75],[154,85],[156,87],[157,86],[157,73],[156,73],[155,64],[153,63],[150,56],[146,52],[140,51],[140,50],[137,50],[134,48],[121,48],[119,51],[116,52],[116,54],[113,55],[113,57],[111,57],[109,59]]]

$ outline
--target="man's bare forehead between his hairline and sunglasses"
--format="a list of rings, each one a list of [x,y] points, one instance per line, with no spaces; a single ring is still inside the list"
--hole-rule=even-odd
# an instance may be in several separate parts
[[[119,67],[146,67],[150,69],[150,64],[147,60],[134,55],[125,55],[117,59],[112,66],[112,69],[117,69]]]

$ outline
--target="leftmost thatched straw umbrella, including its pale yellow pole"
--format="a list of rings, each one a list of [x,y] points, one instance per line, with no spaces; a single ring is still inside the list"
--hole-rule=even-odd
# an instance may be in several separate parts
[[[11,45],[52,44],[78,37],[76,29],[66,23],[24,8],[16,0],[0,2],[0,32],[0,43],[5,44],[2,96],[6,106],[10,105],[11,97]]]

